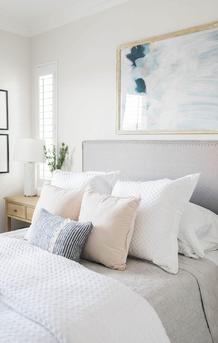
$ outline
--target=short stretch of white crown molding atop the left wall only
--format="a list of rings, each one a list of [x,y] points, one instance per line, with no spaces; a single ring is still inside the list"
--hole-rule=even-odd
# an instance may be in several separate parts
[[[29,25],[23,22],[0,16],[0,30],[30,37]]]

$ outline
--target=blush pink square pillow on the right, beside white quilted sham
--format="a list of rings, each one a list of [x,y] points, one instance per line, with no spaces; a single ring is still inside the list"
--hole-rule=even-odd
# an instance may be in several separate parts
[[[79,222],[90,220],[95,228],[88,235],[81,257],[124,270],[141,199],[117,198],[86,189]]]

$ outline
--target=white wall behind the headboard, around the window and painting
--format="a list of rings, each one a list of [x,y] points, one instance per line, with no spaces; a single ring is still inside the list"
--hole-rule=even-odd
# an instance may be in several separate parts
[[[31,38],[32,81],[36,64],[58,60],[58,143],[73,151],[68,170],[81,171],[83,140],[218,138],[115,134],[116,46],[210,23],[217,13],[217,0],[131,0]]]

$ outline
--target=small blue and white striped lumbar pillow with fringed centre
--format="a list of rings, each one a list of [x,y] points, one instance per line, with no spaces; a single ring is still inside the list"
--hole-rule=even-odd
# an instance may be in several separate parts
[[[29,244],[79,262],[92,223],[79,223],[40,209],[33,224]]]

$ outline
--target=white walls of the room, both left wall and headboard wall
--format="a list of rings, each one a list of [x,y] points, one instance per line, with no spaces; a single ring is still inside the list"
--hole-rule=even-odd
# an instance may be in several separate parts
[[[10,128],[10,173],[0,174],[0,230],[3,197],[23,193],[23,164],[12,157],[16,137],[30,137],[30,71],[34,136],[35,65],[58,60],[58,142],[69,145],[68,170],[82,170],[83,140],[217,139],[115,134],[117,45],[217,21],[217,13],[217,0],[130,0],[30,39],[0,31],[0,89],[9,91]]]

